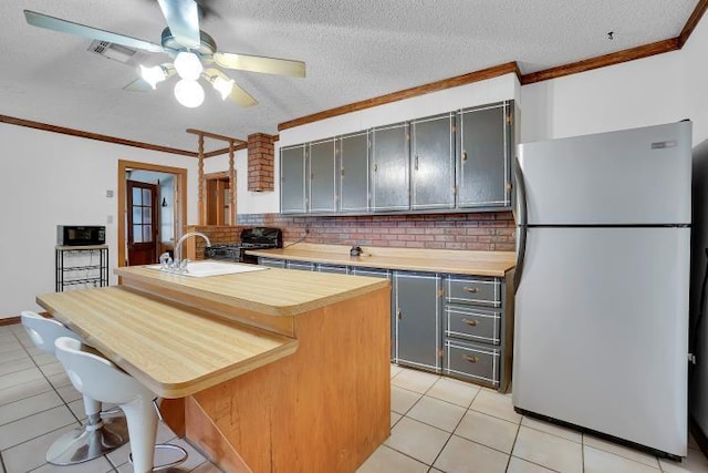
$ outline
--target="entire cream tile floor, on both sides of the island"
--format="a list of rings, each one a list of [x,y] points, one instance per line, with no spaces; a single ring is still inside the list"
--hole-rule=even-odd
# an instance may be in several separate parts
[[[519,415],[510,395],[396,366],[391,374],[391,436],[357,473],[708,473],[708,460],[693,442],[681,463],[658,460]],[[0,327],[0,473],[132,472],[127,445],[76,466],[45,463],[48,446],[80,424],[82,410],[81,395],[59,362],[34,348],[21,326]],[[173,473],[219,472],[165,425],[157,435],[158,442],[189,452],[188,462]]]

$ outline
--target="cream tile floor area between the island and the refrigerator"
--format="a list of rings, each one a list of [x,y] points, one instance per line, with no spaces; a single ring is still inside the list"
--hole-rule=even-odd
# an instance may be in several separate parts
[[[693,441],[683,462],[514,412],[511,394],[391,368],[391,436],[357,473],[708,473]]]

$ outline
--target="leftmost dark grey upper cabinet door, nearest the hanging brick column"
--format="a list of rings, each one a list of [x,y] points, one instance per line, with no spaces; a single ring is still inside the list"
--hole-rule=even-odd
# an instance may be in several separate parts
[[[280,150],[280,212],[304,214],[305,200],[305,146]]]

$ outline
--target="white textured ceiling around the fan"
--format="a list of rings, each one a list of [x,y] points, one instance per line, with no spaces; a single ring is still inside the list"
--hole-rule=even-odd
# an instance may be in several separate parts
[[[0,114],[184,150],[188,127],[246,138],[279,123],[492,65],[544,70],[677,37],[698,0],[202,0],[201,29],[221,52],[302,60],[305,79],[228,71],[260,103],[207,89],[199,109],[126,92],[133,66],[91,40],[30,27],[22,10],[159,43],[155,0],[0,2]],[[614,40],[607,32],[614,31]],[[163,54],[146,54],[159,63]],[[206,85],[206,84],[205,84]],[[208,143],[207,148],[223,143]]]

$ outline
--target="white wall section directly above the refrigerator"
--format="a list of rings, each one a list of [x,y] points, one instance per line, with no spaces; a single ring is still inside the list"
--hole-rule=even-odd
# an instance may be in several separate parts
[[[521,88],[521,142],[687,119],[683,51]]]

